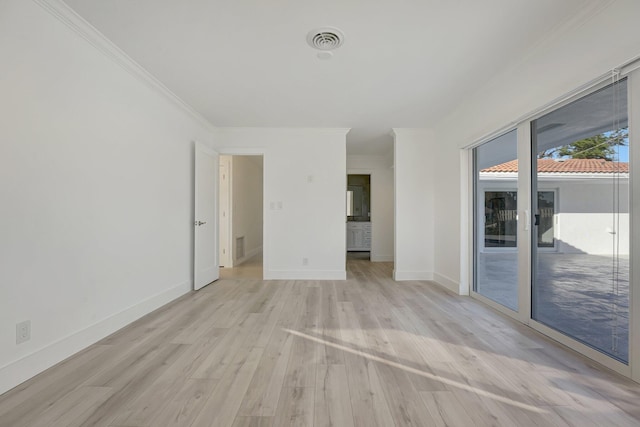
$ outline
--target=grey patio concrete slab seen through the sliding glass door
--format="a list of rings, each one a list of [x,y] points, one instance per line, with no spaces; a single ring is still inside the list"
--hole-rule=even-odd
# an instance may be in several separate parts
[[[481,253],[477,292],[517,310],[517,254]],[[540,253],[532,317],[578,341],[629,360],[629,259]]]

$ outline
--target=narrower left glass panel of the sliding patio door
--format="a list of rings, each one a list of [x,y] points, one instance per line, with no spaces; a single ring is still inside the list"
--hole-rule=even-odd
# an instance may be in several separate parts
[[[483,144],[474,158],[473,289],[518,310],[516,131]]]

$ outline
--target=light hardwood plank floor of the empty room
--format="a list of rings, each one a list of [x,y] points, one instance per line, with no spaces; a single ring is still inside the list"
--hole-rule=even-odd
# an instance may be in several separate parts
[[[348,270],[221,279],[0,396],[0,425],[640,425],[640,385],[388,263]]]

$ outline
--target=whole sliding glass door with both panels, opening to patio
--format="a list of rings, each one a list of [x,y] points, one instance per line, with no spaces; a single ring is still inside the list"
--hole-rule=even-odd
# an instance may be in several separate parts
[[[630,364],[628,123],[622,79],[473,149],[473,295],[616,369]]]

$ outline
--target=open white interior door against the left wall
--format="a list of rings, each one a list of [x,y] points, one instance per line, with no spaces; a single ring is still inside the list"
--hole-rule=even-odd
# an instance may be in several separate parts
[[[218,265],[218,153],[196,143],[194,278],[198,290],[220,277]]]

